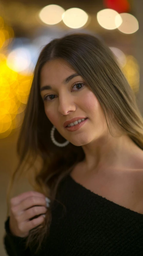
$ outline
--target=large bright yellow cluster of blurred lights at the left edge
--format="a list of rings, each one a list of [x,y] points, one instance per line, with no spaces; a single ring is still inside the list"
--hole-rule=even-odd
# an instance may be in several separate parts
[[[0,139],[21,126],[32,77],[10,69],[6,56],[0,54]]]

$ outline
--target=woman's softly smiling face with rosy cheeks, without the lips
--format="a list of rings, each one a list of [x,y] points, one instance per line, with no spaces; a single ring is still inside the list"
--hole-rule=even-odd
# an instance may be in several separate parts
[[[47,62],[41,69],[40,87],[44,89],[41,97],[47,118],[61,136],[73,145],[82,146],[103,136],[107,125],[96,96],[82,76],[77,75],[64,82],[75,73],[63,59]],[[68,131],[63,124],[74,117],[88,119],[78,130]]]

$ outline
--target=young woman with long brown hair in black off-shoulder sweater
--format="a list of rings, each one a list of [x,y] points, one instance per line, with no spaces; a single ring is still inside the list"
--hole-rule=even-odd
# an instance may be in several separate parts
[[[8,255],[143,254],[143,118],[98,38],[66,35],[41,51],[18,153],[12,183],[40,163],[38,187],[10,200]]]

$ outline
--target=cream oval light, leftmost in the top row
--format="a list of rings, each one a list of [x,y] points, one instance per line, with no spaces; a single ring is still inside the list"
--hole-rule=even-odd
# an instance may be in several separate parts
[[[39,18],[46,24],[54,25],[62,20],[64,9],[59,5],[47,5],[39,13]]]

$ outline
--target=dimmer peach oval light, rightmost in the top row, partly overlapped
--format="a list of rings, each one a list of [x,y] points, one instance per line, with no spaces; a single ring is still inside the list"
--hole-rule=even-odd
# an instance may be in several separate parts
[[[125,34],[133,34],[139,29],[139,23],[132,14],[121,13],[120,16],[123,22],[121,26],[118,27],[119,31]]]

